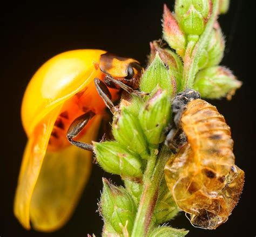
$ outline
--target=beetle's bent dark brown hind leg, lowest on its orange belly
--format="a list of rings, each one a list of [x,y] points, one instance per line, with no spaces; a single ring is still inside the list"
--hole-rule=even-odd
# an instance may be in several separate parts
[[[84,150],[93,151],[93,146],[91,144],[73,140],[73,138],[75,138],[83,130],[83,128],[86,126],[86,124],[90,121],[90,119],[93,116],[95,116],[95,113],[89,111],[82,114],[72,122],[68,129],[68,132],[66,133],[66,137],[68,138],[71,144]]]

